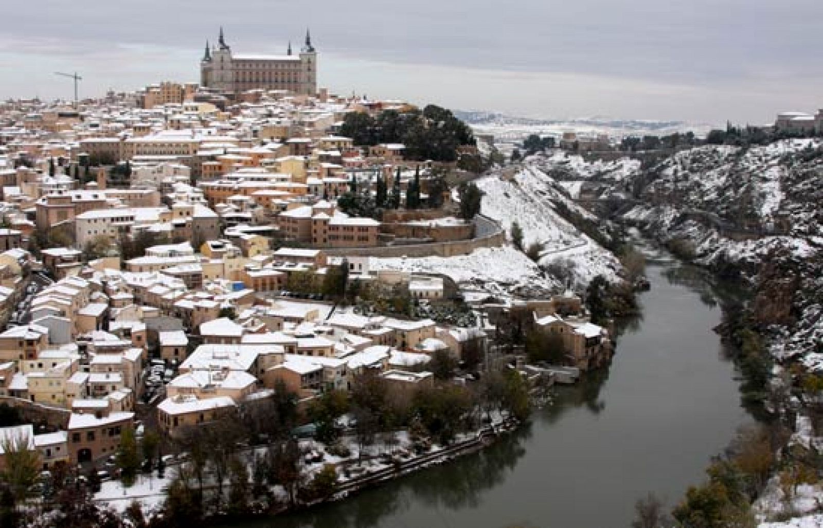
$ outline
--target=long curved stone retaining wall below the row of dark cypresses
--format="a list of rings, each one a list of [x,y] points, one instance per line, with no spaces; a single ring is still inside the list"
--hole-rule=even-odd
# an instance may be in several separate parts
[[[473,222],[476,237],[471,240],[378,248],[330,248],[326,252],[328,255],[338,257],[454,257],[456,255],[467,255],[480,248],[499,248],[506,243],[506,234],[495,220],[491,220],[487,216],[477,215]]]

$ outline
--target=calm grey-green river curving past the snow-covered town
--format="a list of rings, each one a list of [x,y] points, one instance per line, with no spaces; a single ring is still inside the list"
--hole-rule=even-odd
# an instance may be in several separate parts
[[[752,419],[712,331],[714,290],[672,262],[647,274],[643,316],[622,327],[611,366],[558,388],[528,427],[342,502],[243,526],[625,527],[650,491],[679,501]]]

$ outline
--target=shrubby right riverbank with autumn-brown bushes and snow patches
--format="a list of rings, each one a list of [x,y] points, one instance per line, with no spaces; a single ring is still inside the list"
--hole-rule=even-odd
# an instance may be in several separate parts
[[[658,243],[663,240],[658,239]],[[689,260],[695,259],[691,256]],[[707,469],[709,484],[690,490],[679,514],[708,515],[700,497],[709,497],[710,489],[722,486],[735,518],[750,523],[776,521],[762,525],[770,527],[807,526],[803,523],[816,519],[805,517],[799,524],[791,519],[823,512],[823,486],[817,484],[821,465],[816,456],[823,438],[816,436],[811,419],[799,409],[804,401],[802,393],[797,395],[799,399],[792,395],[797,393],[797,386],[802,384],[798,381],[803,377],[790,375],[788,365],[780,363],[782,358],[770,354],[788,332],[763,324],[763,317],[756,313],[758,301],[763,309],[761,299],[769,287],[764,286],[762,271],[746,278],[742,274],[729,275],[728,268],[705,261],[697,260],[695,266],[716,286],[738,291],[749,288],[734,302],[723,303],[723,322],[715,331],[728,345],[730,357],[742,373],[742,402],[760,420],[760,426],[732,439]],[[764,266],[768,263],[760,267]],[[784,277],[780,279],[785,282]],[[751,464],[754,459],[756,465]],[[749,484],[730,484],[742,480]],[[779,524],[781,521],[786,524]]]

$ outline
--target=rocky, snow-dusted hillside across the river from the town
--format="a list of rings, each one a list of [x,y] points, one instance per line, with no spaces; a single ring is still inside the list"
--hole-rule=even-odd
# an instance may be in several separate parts
[[[640,187],[644,203],[624,218],[664,241],[685,240],[697,262],[737,266],[753,282],[765,263],[779,266],[778,279],[796,276],[794,323],[774,341],[773,354],[802,356],[823,372],[821,175],[821,140],[702,146],[627,181],[624,188]]]

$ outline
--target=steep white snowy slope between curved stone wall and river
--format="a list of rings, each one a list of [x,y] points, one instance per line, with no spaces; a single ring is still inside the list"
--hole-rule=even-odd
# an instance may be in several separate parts
[[[542,170],[527,167],[511,180],[489,176],[478,180],[477,187],[485,193],[484,215],[500,221],[507,231],[517,221],[523,229],[524,247],[531,243],[543,245],[542,265],[568,263],[579,288],[597,275],[616,280],[620,270],[616,257],[560,216],[556,203],[563,203],[591,220],[597,219],[574,204],[563,188]]]

